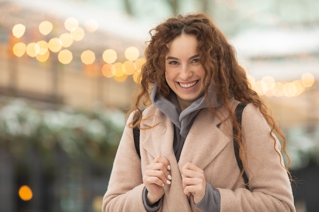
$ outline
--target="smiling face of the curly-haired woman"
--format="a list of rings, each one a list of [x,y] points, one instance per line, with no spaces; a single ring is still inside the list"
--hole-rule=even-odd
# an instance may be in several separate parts
[[[176,37],[168,44],[165,77],[177,96],[181,110],[190,106],[204,93],[205,71],[196,52],[198,41],[194,35]]]

